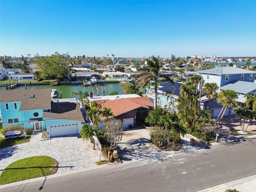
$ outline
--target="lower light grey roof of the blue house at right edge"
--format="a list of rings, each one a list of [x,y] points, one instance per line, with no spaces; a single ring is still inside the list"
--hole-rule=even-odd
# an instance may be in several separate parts
[[[220,87],[221,90],[234,90],[237,93],[250,93],[256,91],[256,83],[237,81]]]

